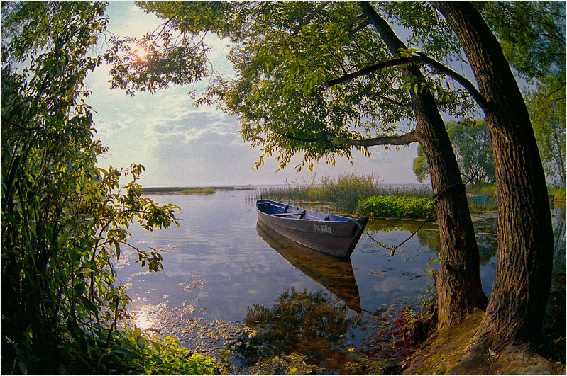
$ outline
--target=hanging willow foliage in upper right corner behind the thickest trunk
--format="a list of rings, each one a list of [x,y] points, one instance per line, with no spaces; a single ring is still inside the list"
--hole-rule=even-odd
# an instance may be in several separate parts
[[[486,1],[475,4],[500,40],[524,89],[549,183],[566,184],[566,4]]]

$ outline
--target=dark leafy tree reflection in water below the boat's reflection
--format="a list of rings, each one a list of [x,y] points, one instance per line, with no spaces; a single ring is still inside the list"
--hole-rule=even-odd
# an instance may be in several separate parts
[[[273,355],[300,353],[309,363],[340,368],[346,359],[348,329],[360,324],[348,317],[346,305],[323,290],[283,292],[274,307],[248,307],[244,324],[254,329],[248,343],[237,351],[248,364]],[[344,363],[344,362],[342,362]]]

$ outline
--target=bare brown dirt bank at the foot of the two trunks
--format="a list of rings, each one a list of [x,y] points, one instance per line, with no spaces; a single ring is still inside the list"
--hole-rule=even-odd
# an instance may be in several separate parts
[[[466,321],[431,336],[408,358],[403,375],[565,375],[562,363],[542,358],[527,345],[507,346],[500,353],[464,353],[483,318],[474,312]]]

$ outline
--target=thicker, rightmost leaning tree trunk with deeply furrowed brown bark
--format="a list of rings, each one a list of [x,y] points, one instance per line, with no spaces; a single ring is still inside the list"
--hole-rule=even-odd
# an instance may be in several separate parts
[[[502,48],[468,1],[433,1],[473,67],[498,186],[498,258],[478,346],[541,339],[551,283],[553,232],[544,169],[522,93]]]

